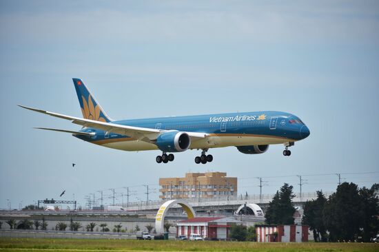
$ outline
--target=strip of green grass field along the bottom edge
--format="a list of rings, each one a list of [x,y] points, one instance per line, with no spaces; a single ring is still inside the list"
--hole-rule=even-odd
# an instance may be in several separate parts
[[[379,251],[379,244],[0,238],[0,251]]]

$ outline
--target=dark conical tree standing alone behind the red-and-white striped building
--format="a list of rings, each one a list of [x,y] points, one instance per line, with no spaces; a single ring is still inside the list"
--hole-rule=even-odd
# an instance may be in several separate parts
[[[265,213],[267,224],[294,224],[293,188],[285,183],[283,187],[280,187],[280,191],[276,191]]]

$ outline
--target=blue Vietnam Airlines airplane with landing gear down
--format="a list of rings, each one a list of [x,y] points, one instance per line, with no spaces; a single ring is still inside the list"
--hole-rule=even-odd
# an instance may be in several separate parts
[[[83,118],[19,105],[34,112],[48,114],[81,125],[79,131],[37,127],[70,133],[86,142],[124,151],[161,150],[156,162],[174,160],[176,152],[202,150],[196,164],[212,162],[209,149],[235,146],[243,154],[263,154],[269,145],[283,144],[288,149],[310,132],[298,116],[285,112],[238,112],[201,116],[171,116],[134,120],[112,120],[80,78],[72,78]]]

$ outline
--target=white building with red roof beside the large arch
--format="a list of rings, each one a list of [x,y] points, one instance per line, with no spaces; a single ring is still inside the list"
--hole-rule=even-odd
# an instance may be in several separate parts
[[[203,238],[227,240],[232,224],[245,224],[239,220],[225,217],[196,217],[176,224],[176,236],[198,233]]]

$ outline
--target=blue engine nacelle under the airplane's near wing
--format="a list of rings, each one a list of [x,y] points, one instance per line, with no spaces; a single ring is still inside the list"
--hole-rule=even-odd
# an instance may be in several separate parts
[[[156,138],[155,144],[164,152],[181,152],[189,148],[191,138],[185,132],[166,132]]]

